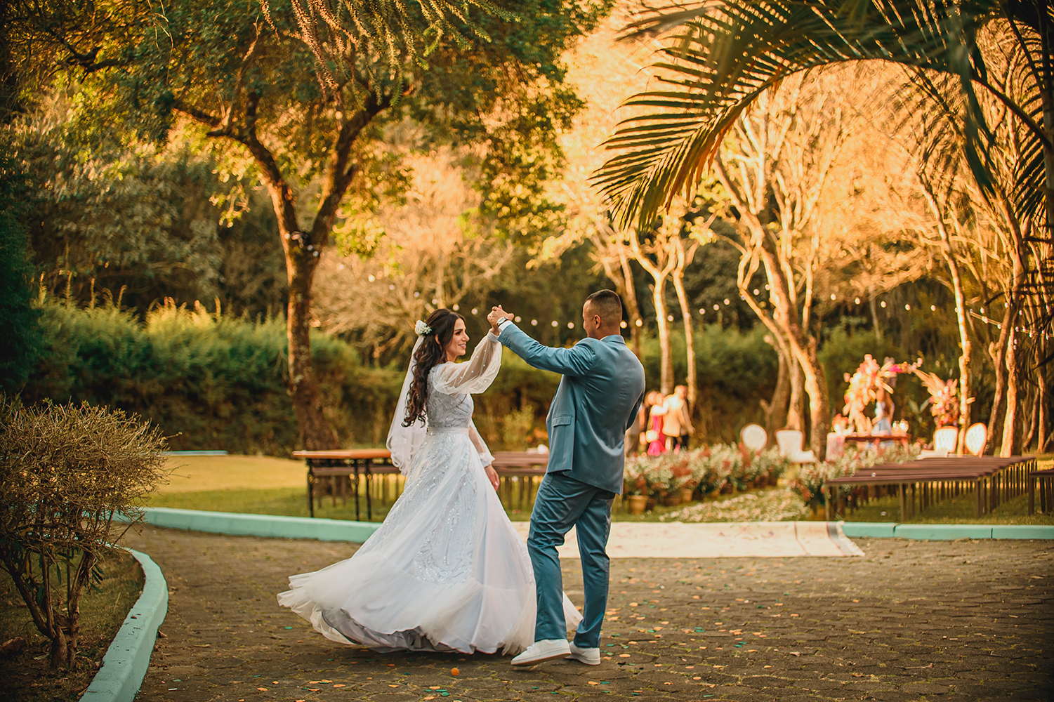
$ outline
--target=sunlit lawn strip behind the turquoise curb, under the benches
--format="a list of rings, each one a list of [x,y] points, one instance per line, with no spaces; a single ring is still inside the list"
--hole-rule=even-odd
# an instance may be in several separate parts
[[[1052,456],[1041,456],[1040,468],[1054,465]],[[308,516],[306,475],[302,462],[268,456],[177,456],[171,460],[174,469],[170,483],[153,494],[151,507],[174,507],[179,509],[201,509],[219,512],[253,514],[276,514],[285,516]],[[389,500],[382,501],[379,492],[373,499],[373,521],[379,522],[388,514],[395,492],[395,477],[389,476]],[[379,481],[375,480],[374,485]],[[765,488],[753,493],[764,498],[762,502],[773,502],[777,493],[786,488]],[[704,504],[713,503],[715,514],[723,512],[720,503],[742,496],[743,493],[708,496]],[[1054,524],[1054,515],[1036,514],[1028,516],[1028,496],[1021,495],[1000,505],[993,513],[977,519],[974,516],[972,495],[957,500],[946,500],[932,505],[912,520],[919,524]],[[360,519],[366,520],[366,498],[359,495]],[[334,520],[354,520],[355,501],[349,499],[334,501],[324,498],[316,501],[315,516]],[[698,504],[698,503],[697,503]],[[611,519],[616,522],[668,522],[684,509],[678,507],[656,507],[644,514],[629,514],[621,499],[617,499]],[[734,513],[733,510],[727,510]],[[882,512],[885,514],[882,514]],[[506,513],[513,522],[530,519],[530,505],[506,505]],[[718,518],[720,519],[720,518]],[[761,519],[764,519],[763,516]],[[806,516],[806,519],[808,519]],[[822,510],[813,519],[823,519]],[[844,515],[850,522],[898,522],[899,502],[895,498],[873,500],[854,512]],[[706,521],[709,521],[708,519]]]

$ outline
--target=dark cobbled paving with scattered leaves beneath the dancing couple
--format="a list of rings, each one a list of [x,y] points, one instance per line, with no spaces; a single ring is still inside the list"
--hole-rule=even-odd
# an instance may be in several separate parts
[[[1054,543],[856,540],[864,558],[618,559],[598,667],[377,655],[275,603],[336,543],[145,527],[169,580],[141,700],[1054,699]],[[565,588],[581,601],[577,561]],[[458,675],[451,675],[451,668]],[[561,697],[555,697],[560,695]]]

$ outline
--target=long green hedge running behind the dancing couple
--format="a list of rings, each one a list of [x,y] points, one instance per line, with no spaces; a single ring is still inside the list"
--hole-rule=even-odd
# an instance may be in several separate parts
[[[25,402],[87,401],[150,418],[173,450],[226,449],[288,455],[300,447],[286,393],[285,321],[222,317],[172,304],[143,321],[114,306],[41,309],[45,355],[23,389]],[[728,440],[760,418],[758,399],[775,383],[776,358],[760,332],[707,327],[697,337],[699,423],[707,441]],[[683,337],[675,337],[684,377]],[[658,343],[643,348],[648,386],[658,385]],[[372,368],[338,337],[312,334],[327,413],[341,446],[384,444],[405,368]],[[560,376],[506,352],[493,386],[475,397],[475,422],[492,450],[546,442],[545,414]]]

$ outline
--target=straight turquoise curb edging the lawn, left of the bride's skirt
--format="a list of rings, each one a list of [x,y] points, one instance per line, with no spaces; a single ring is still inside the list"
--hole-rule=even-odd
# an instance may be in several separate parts
[[[189,529],[239,537],[315,539],[362,544],[380,527],[379,522],[350,522],[310,516],[206,512],[197,509],[144,507],[143,521],[170,529]]]

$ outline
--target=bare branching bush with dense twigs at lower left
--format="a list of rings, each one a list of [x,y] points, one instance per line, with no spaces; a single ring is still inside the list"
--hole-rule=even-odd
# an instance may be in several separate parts
[[[0,565],[51,640],[53,668],[73,666],[81,591],[141,521],[136,505],[165,474],[165,450],[156,428],[121,410],[0,398]]]

